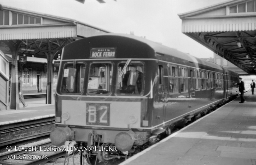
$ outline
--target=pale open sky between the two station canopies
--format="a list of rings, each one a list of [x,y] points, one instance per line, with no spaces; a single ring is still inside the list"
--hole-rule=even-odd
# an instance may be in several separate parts
[[[146,37],[199,58],[213,52],[181,33],[178,14],[227,0],[0,0],[4,6],[51,14],[95,26],[113,33]]]

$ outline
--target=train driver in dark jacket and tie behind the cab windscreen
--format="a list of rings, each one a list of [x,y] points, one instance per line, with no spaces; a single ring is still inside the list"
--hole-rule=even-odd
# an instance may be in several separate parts
[[[130,64],[130,71],[127,71],[123,79],[123,88],[127,94],[140,94],[142,91],[142,72],[137,66]]]

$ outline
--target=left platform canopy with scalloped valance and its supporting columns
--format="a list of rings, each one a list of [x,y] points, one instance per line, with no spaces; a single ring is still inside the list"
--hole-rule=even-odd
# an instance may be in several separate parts
[[[15,59],[15,69],[12,69],[12,75],[15,76],[11,84],[10,109],[19,109],[18,56],[47,59],[46,104],[51,104],[53,103],[52,62],[54,59],[60,59],[62,48],[80,38],[108,33],[74,19],[4,5],[2,10],[0,9],[0,29],[0,50]]]

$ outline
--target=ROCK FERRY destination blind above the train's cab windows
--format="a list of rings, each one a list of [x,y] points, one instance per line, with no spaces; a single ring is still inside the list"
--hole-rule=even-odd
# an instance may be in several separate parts
[[[90,58],[115,58],[116,48],[92,48]]]

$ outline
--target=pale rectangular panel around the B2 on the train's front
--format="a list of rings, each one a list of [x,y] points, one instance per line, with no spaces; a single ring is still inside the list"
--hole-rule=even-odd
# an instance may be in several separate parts
[[[66,125],[140,128],[140,112],[141,102],[138,101],[62,100],[62,116],[67,117],[61,124],[65,122]]]

